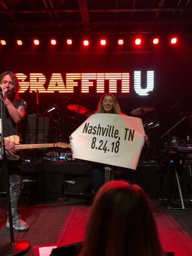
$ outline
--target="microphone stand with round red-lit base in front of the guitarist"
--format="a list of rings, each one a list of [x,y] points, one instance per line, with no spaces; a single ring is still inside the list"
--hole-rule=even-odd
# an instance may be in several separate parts
[[[5,144],[3,140],[3,115],[2,115],[2,90],[1,90],[1,117],[0,117],[0,143],[1,143],[1,157],[0,160],[3,161],[2,168],[5,171],[6,177],[6,194],[7,194],[7,210],[9,216],[9,225],[10,225],[10,238],[11,241],[6,243],[5,245],[0,246],[0,256],[12,256],[12,255],[19,255],[21,253],[26,252],[30,249],[31,245],[30,242],[27,240],[23,241],[15,241],[14,239],[14,230],[12,226],[12,213],[11,213],[11,199],[10,199],[10,181],[9,181],[9,171],[7,167],[7,156],[5,151]]]

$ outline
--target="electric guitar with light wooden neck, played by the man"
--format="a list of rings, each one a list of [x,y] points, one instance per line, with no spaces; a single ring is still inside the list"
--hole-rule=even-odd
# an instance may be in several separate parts
[[[11,135],[10,137],[6,137],[5,139],[7,139],[7,141],[12,141],[15,143],[19,143],[19,136],[18,135]],[[70,148],[70,144],[69,143],[61,143],[61,142],[57,142],[57,143],[43,143],[43,144],[19,144],[16,145],[16,148],[18,150],[21,149],[31,149],[31,148],[44,148],[44,147],[62,147],[62,148]],[[7,155],[7,159],[9,160],[18,160],[19,156],[18,155],[13,155],[10,154],[9,151],[6,150],[6,155]]]

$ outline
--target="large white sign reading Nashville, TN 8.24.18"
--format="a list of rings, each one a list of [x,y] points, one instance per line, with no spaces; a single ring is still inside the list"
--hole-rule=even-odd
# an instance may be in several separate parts
[[[73,158],[136,170],[144,135],[140,118],[93,114],[72,133]]]

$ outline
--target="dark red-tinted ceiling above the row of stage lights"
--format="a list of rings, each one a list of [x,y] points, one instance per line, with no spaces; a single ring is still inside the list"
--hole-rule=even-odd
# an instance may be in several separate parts
[[[192,0],[0,0],[0,33],[192,34]]]

